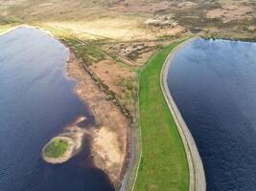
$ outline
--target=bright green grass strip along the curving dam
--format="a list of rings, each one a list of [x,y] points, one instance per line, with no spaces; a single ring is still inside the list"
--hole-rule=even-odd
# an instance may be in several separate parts
[[[184,147],[160,86],[164,61],[180,43],[181,41],[174,42],[154,54],[140,74],[142,159],[135,190],[189,189],[189,170]]]

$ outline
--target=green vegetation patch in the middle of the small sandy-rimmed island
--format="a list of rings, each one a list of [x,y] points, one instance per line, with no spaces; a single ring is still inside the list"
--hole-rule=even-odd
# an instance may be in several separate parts
[[[44,149],[44,154],[48,158],[59,158],[63,156],[68,147],[67,140],[54,139]]]

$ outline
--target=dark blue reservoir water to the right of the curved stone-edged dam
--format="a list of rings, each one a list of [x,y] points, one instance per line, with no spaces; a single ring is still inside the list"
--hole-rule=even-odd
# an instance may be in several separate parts
[[[256,190],[256,44],[197,39],[175,54],[168,85],[207,190]]]

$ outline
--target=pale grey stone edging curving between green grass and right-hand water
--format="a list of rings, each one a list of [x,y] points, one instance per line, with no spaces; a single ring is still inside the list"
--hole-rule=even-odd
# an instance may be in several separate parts
[[[185,42],[175,47],[175,50],[169,53],[162,66],[160,74],[160,86],[169,110],[174,117],[176,127],[178,129],[180,138],[182,139],[183,146],[186,152],[186,157],[189,165],[189,191],[206,191],[205,173],[202,161],[198,153],[198,147],[194,138],[191,135],[188,126],[186,125],[177,106],[175,105],[175,100],[171,95],[167,84],[168,71],[173,62],[175,53],[196,38],[197,37],[186,40]]]

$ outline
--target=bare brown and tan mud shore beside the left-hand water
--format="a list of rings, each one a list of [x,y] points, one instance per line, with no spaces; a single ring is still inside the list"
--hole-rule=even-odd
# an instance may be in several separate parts
[[[76,93],[88,104],[96,119],[95,126],[88,130],[91,160],[95,167],[105,171],[118,189],[128,168],[130,121],[120,108],[106,100],[105,93],[81,66],[81,60],[70,50],[67,74],[77,80]]]

